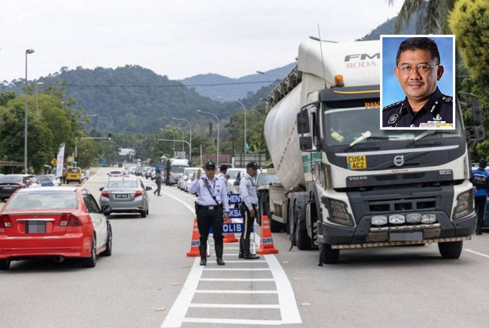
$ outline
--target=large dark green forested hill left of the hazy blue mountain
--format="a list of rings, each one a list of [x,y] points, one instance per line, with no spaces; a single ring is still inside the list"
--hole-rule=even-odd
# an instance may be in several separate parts
[[[167,124],[174,124],[171,117],[198,121],[205,115],[198,109],[215,113],[221,119],[229,117],[238,108],[233,103],[222,103],[184,87],[178,81],[161,76],[140,66],[116,69],[78,67],[63,68],[59,73],[41,77],[33,83],[66,83],[69,96],[92,117],[90,128],[102,132],[154,133]],[[0,91],[21,91],[22,81],[3,83]],[[43,86],[39,85],[39,92]]]

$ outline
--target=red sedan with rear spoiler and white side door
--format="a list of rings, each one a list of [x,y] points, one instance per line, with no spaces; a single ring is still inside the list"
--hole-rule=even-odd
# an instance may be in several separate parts
[[[112,229],[95,198],[82,187],[18,189],[0,211],[0,270],[12,260],[81,258],[94,267],[112,253]]]

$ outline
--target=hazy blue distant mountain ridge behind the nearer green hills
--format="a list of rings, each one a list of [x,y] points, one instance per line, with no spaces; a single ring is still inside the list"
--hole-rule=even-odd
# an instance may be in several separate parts
[[[228,99],[241,99],[246,97],[249,93],[258,91],[261,87],[267,86],[270,82],[276,79],[282,79],[280,75],[287,75],[292,70],[296,63],[290,63],[289,65],[279,67],[273,70],[267,70],[266,74],[250,74],[239,78],[231,78],[222,76],[219,74],[199,74],[191,77],[187,77],[180,80],[184,85],[207,85],[207,86],[195,86],[195,91],[199,94],[208,96],[211,99],[217,99],[221,96]],[[262,82],[262,83],[260,83]],[[226,85],[215,85],[215,84]],[[244,83],[244,84],[239,84]],[[214,84],[214,85],[213,85]]]

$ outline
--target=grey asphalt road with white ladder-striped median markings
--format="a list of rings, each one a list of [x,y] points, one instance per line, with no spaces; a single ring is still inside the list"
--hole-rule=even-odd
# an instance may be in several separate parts
[[[97,199],[108,170],[85,183]],[[342,250],[338,264],[322,267],[317,251],[288,251],[289,236],[273,234],[279,254],[239,261],[229,243],[224,267],[211,256],[203,268],[185,256],[195,197],[162,191],[151,193],[144,219],[111,216],[113,253],[95,268],[30,260],[0,272],[0,326],[489,326],[489,234],[466,241],[457,260],[426,245]]]

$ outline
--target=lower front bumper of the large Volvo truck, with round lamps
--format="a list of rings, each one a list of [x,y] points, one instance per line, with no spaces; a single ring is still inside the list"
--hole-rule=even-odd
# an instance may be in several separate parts
[[[444,241],[455,241],[450,238],[467,237],[475,232],[477,216],[475,212],[470,215],[451,221],[443,211],[436,212],[437,222],[433,224],[412,224],[412,225],[389,225],[372,226],[371,217],[362,217],[356,227],[342,227],[331,225],[323,221],[318,221],[317,239],[319,242],[330,245],[358,245],[357,247],[341,248],[361,248],[393,246],[401,244],[419,244],[429,242],[443,242],[437,239],[447,239]],[[391,233],[414,233],[422,232],[421,240],[392,241]],[[466,238],[467,239],[467,238]],[[463,239],[461,239],[463,240]],[[387,243],[387,244],[386,244]],[[372,246],[361,246],[362,244],[377,244]]]

